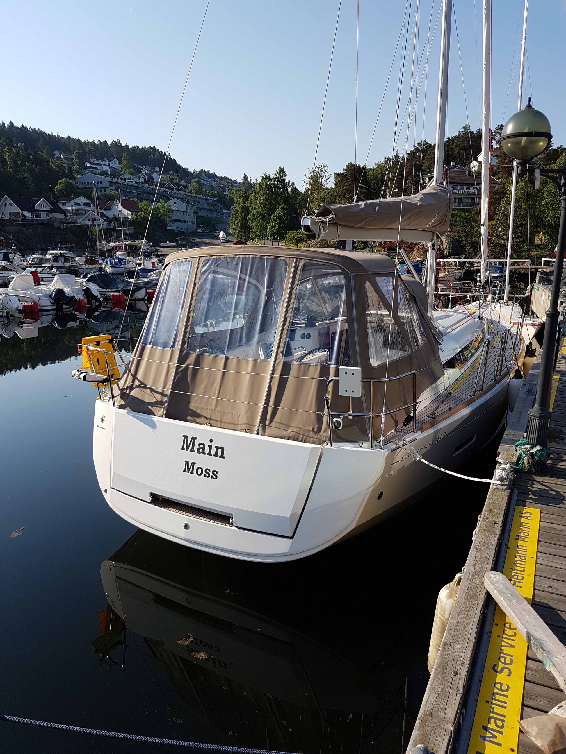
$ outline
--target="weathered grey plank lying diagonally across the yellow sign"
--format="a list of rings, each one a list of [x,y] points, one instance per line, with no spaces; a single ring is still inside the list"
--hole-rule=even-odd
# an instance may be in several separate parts
[[[558,641],[543,619],[506,576],[497,571],[489,571],[484,575],[484,584],[518,633],[566,694],[566,647]]]

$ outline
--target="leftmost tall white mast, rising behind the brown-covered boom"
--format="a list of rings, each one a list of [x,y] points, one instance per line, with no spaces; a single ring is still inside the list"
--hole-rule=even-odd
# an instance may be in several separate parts
[[[450,29],[452,23],[452,0],[442,0],[442,35],[440,40],[440,75],[438,77],[438,110],[436,112],[435,170],[432,184],[442,181],[444,170],[444,138],[446,136],[446,103],[448,100],[448,63],[450,60]],[[436,252],[429,244],[426,256],[426,293],[434,301],[436,282]]]

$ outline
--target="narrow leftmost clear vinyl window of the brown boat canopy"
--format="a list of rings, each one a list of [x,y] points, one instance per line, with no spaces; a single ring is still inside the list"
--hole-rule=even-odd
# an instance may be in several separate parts
[[[174,348],[177,345],[191,265],[190,259],[184,259],[171,262],[163,271],[141,335],[142,345],[152,348]]]

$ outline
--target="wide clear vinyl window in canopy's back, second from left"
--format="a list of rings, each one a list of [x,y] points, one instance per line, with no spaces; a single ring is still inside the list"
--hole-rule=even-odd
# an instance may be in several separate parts
[[[186,350],[232,359],[271,358],[287,275],[285,259],[210,257],[202,262]]]

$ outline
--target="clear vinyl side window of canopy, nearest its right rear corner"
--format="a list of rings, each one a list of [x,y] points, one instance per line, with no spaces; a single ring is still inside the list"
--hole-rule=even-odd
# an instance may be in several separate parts
[[[401,330],[383,303],[383,299],[389,301],[389,296],[392,298],[393,278],[391,276],[391,279],[388,280],[388,277],[376,278],[383,297],[369,283],[365,284],[368,351],[371,366],[386,363],[388,356],[389,361],[394,361],[410,353],[408,344],[401,335]]]

